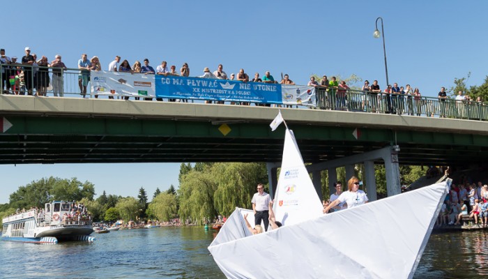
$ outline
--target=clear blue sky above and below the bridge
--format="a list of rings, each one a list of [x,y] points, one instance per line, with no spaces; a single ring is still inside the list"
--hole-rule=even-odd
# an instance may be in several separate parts
[[[104,69],[119,55],[154,68],[188,62],[192,76],[222,63],[228,75],[270,70],[306,84],[311,74],[356,74],[384,89],[383,45],[372,36],[383,17],[390,84],[437,96],[455,77],[471,72],[467,84],[480,85],[487,75],[487,1],[6,1],[2,10],[7,56],[29,46],[69,68],[82,53]],[[179,165],[1,165],[0,203],[49,175],[91,181],[98,194],[137,196],[143,186],[152,196],[178,184]]]

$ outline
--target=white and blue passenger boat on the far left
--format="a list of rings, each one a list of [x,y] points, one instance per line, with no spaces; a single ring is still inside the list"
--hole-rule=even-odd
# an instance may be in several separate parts
[[[91,218],[74,213],[74,202],[51,202],[45,209],[29,209],[3,218],[1,239],[31,243],[94,241]]]

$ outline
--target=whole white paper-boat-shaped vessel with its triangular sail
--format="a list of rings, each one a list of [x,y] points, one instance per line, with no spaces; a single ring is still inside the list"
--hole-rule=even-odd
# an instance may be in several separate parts
[[[252,235],[236,208],[208,250],[227,278],[413,278],[450,181],[324,215],[287,128],[275,192],[282,227]]]

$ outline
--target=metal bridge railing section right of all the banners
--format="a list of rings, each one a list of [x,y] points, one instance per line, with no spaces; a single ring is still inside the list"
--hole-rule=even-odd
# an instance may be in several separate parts
[[[317,107],[321,110],[488,120],[488,105],[482,102],[459,101],[450,98],[439,100],[439,98],[432,97],[372,93],[353,89],[343,93],[337,92],[337,89],[326,90],[318,87]]]

